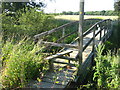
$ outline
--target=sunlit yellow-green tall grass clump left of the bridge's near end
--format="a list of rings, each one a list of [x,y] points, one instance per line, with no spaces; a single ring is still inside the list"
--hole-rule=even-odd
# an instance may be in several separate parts
[[[47,70],[47,62],[42,53],[35,55],[39,50],[28,41],[20,41],[17,44],[7,41],[2,48],[4,69],[2,72],[3,88],[24,87],[31,79],[36,79],[40,72]]]

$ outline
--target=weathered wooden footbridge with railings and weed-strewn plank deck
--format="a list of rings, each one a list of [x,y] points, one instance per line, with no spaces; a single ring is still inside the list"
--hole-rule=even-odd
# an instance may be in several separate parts
[[[40,82],[31,83],[31,87],[69,88],[73,83],[76,85],[84,82],[95,57],[95,47],[111,36],[112,20],[106,19],[96,22],[83,34],[79,30],[65,34],[67,27],[75,26],[78,23],[78,21],[70,22],[34,36],[35,41],[38,41],[39,45],[43,44],[47,49],[53,46],[62,47],[62,49],[45,58],[49,61],[49,71]],[[45,41],[45,37],[57,32],[62,32],[62,37],[56,42]],[[63,42],[65,38],[69,38],[73,34],[77,35],[76,39],[71,43]]]

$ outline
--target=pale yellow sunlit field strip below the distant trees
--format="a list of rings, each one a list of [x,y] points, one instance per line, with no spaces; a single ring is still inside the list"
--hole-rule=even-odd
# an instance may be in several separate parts
[[[64,19],[64,20],[79,20],[79,15],[59,15],[55,16],[56,19]],[[91,16],[91,15],[85,15],[85,19],[118,19],[118,16]]]

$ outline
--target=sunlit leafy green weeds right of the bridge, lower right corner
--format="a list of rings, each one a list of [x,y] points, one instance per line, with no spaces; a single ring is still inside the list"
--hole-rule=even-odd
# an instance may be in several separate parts
[[[104,46],[100,45],[97,48],[97,57],[95,58],[96,66],[93,79],[97,82],[98,88],[119,88],[119,56],[111,56],[108,52],[107,55],[102,55]]]

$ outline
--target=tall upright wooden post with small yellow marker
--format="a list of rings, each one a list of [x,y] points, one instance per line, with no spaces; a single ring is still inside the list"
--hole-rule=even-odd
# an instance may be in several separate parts
[[[80,65],[82,63],[82,51],[83,51],[83,21],[84,21],[84,0],[80,0],[80,13],[79,13],[79,29],[78,29],[78,59],[79,59],[79,68],[78,68],[78,73],[80,69]]]

